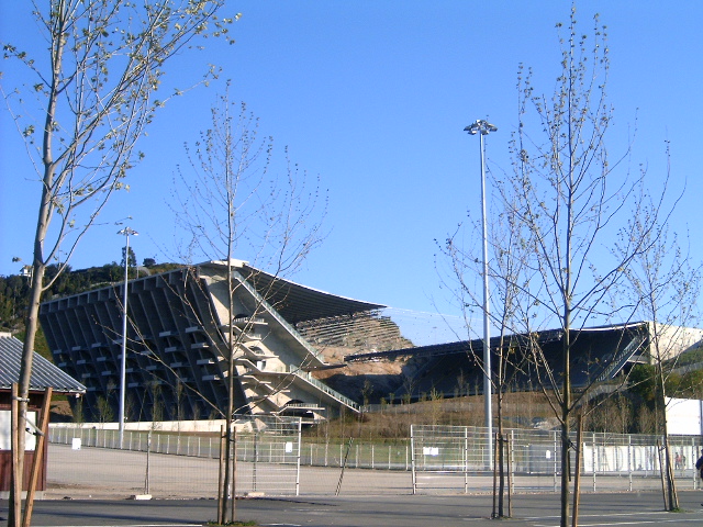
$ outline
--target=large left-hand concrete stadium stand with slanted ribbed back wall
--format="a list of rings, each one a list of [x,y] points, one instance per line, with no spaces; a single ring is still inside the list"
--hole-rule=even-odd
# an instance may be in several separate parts
[[[355,401],[310,374],[327,365],[295,327],[373,316],[383,306],[282,280],[241,260],[231,262],[232,281],[227,269],[211,261],[129,281],[126,419],[220,417],[227,407],[231,352],[238,413],[320,419],[343,408],[357,412]],[[123,284],[113,283],[41,306],[55,363],[87,386],[86,419],[118,415],[122,294]]]

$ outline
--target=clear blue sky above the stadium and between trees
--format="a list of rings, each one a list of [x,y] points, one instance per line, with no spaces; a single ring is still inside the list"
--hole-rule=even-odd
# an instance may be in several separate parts
[[[559,67],[555,24],[570,2],[536,1],[233,1],[242,12],[237,43],[213,43],[208,59],[233,81],[261,130],[330,192],[330,229],[295,281],[332,293],[416,312],[458,314],[446,302],[434,266],[443,239],[467,211],[479,212],[478,138],[462,128],[488,117],[499,126],[487,144],[489,164],[510,170],[507,141],[516,125],[516,71],[532,66],[550,93]],[[30,4],[3,2],[3,41],[31,42]],[[674,229],[690,227],[692,256],[703,250],[698,212],[703,195],[703,2],[581,1],[578,19],[590,32],[593,13],[609,27],[614,144],[638,116],[632,167],[663,173],[671,142],[674,186],[687,193]],[[27,44],[30,47],[31,44]],[[36,44],[34,44],[36,46]],[[181,61],[179,68],[194,67]],[[189,59],[190,60],[190,59]],[[3,87],[14,68],[2,64]],[[178,70],[164,81],[181,87]],[[137,259],[170,258],[168,186],[183,161],[182,144],[209,125],[223,83],[169,104],[141,144],[144,162],[129,176],[131,191],[113,199],[105,223],[81,243],[74,269],[119,261],[124,239],[114,222],[133,216]],[[7,111],[0,113],[0,274],[31,260],[38,183]],[[247,255],[241,255],[247,259]]]

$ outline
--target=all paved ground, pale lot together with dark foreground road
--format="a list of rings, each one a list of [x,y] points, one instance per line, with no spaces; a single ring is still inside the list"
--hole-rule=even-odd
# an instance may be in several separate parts
[[[125,500],[144,489],[144,453],[107,449],[49,448],[49,490],[37,501],[34,527],[118,527],[118,526],[199,526],[214,519],[216,463],[198,458],[159,457],[150,461],[149,502]],[[167,459],[168,458],[168,459]],[[246,469],[246,470],[245,470]],[[238,490],[247,489],[254,476],[252,467],[241,467]],[[248,472],[247,472],[248,471]],[[247,475],[248,474],[248,475]],[[259,469],[256,481],[261,483]],[[276,480],[287,472],[272,472]],[[261,526],[305,527],[453,527],[495,526],[492,512],[492,479],[473,475],[462,494],[464,478],[428,474],[419,485],[422,495],[412,495],[412,475],[403,471],[347,469],[339,485],[339,469],[304,468],[300,474],[298,497],[266,497],[237,501],[238,518]],[[522,493],[513,497],[510,525],[556,527],[559,525],[559,496],[549,476],[523,478]],[[696,483],[696,480],[692,480]],[[661,483],[657,478],[601,478],[582,480],[581,527],[703,526],[703,491],[683,491],[680,484],[681,513],[665,513]],[[341,495],[335,496],[339,485]],[[633,489],[634,492],[624,492]],[[643,489],[648,489],[644,491]],[[537,491],[529,493],[529,491]],[[589,491],[598,490],[599,493]],[[545,492],[547,491],[547,492]],[[239,491],[238,491],[239,492]],[[588,492],[588,493],[587,493]],[[290,494],[290,493],[289,493]],[[293,493],[294,494],[294,493]],[[270,496],[270,494],[267,494]],[[68,497],[64,500],[64,497]],[[166,497],[178,497],[165,500]],[[198,500],[201,497],[200,500]],[[205,498],[202,498],[205,497]],[[0,525],[7,518],[8,502],[0,501]],[[661,524],[658,526],[657,524]]]

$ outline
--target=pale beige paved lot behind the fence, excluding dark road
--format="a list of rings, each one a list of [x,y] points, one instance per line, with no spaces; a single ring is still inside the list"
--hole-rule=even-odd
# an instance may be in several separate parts
[[[152,455],[149,458],[149,494],[155,498],[212,498],[217,492],[217,460],[188,456]],[[126,498],[145,492],[146,453],[104,448],[72,450],[63,445],[49,445],[48,491],[46,497]],[[554,475],[517,475],[516,493],[556,492],[559,481]],[[698,484],[695,476],[678,478],[679,490]],[[490,493],[493,478],[459,472],[417,473],[419,494],[456,494],[467,487],[471,494]],[[412,472],[402,470],[369,470],[337,467],[301,467],[300,478],[290,466],[252,463],[237,466],[237,494],[264,491],[267,495],[334,496],[412,494]],[[657,491],[658,476],[584,475],[583,492]],[[298,492],[297,492],[298,491]]]

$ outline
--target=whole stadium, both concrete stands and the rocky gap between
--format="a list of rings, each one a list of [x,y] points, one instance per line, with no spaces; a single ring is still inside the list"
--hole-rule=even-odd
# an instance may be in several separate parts
[[[86,421],[110,422],[118,415],[122,288],[112,283],[41,306],[55,363],[87,386],[85,397],[72,401]],[[237,414],[316,422],[357,413],[391,392],[408,402],[431,392],[443,397],[480,393],[482,340],[414,346],[382,316],[383,307],[283,280],[242,260],[132,279],[125,418],[221,417],[227,408],[231,355]],[[634,363],[651,362],[651,323],[641,322],[572,335],[574,389],[615,379]],[[676,329],[669,332],[666,348],[671,354],[696,345],[702,336],[700,329]],[[516,391],[536,389],[537,348],[543,366],[558,380],[562,336],[547,330],[491,339],[496,358],[506,349],[513,354],[502,378]],[[492,365],[496,370],[499,360]]]

